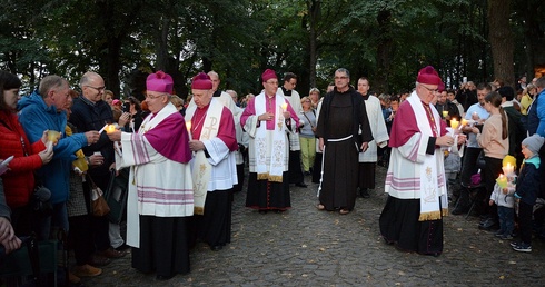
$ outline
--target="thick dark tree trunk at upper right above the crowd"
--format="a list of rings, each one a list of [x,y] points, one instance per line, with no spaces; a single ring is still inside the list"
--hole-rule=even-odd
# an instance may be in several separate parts
[[[513,32],[509,26],[511,0],[488,0],[488,40],[494,62],[494,77],[515,87]]]

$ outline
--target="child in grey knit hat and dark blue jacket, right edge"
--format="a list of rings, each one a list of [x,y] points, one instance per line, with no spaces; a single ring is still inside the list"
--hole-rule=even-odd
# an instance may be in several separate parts
[[[515,251],[532,253],[532,211],[539,192],[539,149],[545,141],[539,135],[523,140],[524,161],[518,172],[515,200],[518,204],[521,241],[511,244]]]

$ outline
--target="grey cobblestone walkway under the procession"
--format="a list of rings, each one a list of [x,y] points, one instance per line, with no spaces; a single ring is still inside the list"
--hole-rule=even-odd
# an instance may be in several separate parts
[[[293,209],[260,215],[235,195],[232,241],[220,251],[200,244],[191,273],[168,281],[117,259],[86,286],[545,286],[545,244],[532,254],[513,251],[508,241],[477,229],[478,218],[445,218],[445,250],[439,257],[407,254],[386,245],[378,217],[384,207],[385,169],[377,167],[371,198],[358,198],[349,215],[319,211],[317,185],[291,189]],[[310,181],[307,177],[306,181]]]

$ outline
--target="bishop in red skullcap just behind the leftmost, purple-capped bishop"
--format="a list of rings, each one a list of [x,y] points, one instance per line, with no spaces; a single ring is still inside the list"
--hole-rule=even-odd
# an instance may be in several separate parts
[[[195,106],[186,111],[190,138],[197,237],[215,251],[231,241],[231,189],[238,182],[238,149],[231,111],[210,90],[204,72],[191,80]],[[229,97],[230,99],[230,97]],[[231,100],[232,101],[232,100]]]

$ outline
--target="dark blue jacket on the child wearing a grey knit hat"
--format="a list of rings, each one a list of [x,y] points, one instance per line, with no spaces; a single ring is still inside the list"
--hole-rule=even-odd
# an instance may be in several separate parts
[[[539,194],[539,156],[526,159],[523,162],[518,178],[516,179],[515,197],[527,205],[535,205]]]

